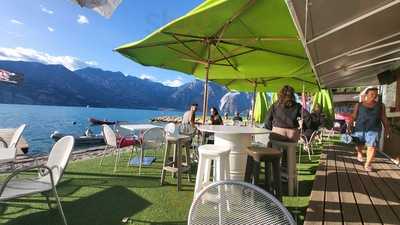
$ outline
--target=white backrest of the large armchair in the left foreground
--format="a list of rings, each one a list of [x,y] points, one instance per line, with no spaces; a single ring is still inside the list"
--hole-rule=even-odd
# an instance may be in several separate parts
[[[64,173],[64,169],[67,167],[72,149],[74,148],[74,143],[75,143],[74,137],[65,136],[60,140],[58,140],[51,149],[46,166],[51,168],[53,172],[53,179],[55,185],[60,181]]]

